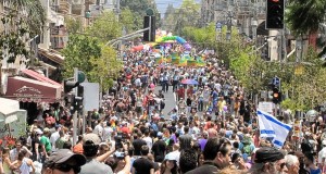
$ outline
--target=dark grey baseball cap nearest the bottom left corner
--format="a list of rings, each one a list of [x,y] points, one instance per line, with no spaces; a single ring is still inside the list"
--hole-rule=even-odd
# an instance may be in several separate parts
[[[86,158],[83,154],[77,154],[68,149],[60,149],[53,152],[49,159],[46,160],[45,165],[51,166],[53,164],[61,164],[67,162],[70,159],[74,159],[78,166],[86,163]]]

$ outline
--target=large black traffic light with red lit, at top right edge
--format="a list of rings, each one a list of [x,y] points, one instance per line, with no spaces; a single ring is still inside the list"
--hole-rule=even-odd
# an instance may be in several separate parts
[[[283,29],[284,28],[284,1],[285,0],[267,0],[266,28]]]

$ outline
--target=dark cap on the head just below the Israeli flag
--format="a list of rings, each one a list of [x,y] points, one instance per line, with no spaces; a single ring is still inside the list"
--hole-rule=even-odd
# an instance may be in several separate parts
[[[284,153],[276,149],[276,148],[271,148],[271,147],[264,147],[260,148],[255,152],[255,163],[265,163],[265,162],[275,162],[278,160],[284,159]]]

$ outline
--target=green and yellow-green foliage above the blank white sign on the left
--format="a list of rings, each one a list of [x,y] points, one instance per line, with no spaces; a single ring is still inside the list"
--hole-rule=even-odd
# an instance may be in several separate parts
[[[65,78],[73,76],[74,67],[86,73],[91,83],[99,83],[101,89],[109,89],[122,70],[122,62],[116,60],[113,48],[100,45],[97,38],[84,35],[71,35],[66,48],[63,75]]]

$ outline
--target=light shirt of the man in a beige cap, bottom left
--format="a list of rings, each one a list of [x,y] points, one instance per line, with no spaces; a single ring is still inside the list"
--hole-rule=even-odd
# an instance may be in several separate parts
[[[79,174],[99,174],[99,173],[113,174],[112,169],[109,165],[101,163],[95,159],[86,162],[86,164],[82,166],[82,170],[79,172]]]

